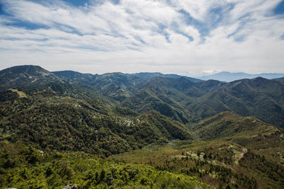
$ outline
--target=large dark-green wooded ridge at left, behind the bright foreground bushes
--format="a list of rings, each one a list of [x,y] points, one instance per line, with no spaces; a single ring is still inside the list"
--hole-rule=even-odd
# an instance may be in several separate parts
[[[155,111],[137,116],[127,108],[110,108],[48,92],[20,98],[16,92],[3,91],[0,96],[1,139],[21,140],[38,149],[109,156],[168,139],[192,139],[185,125]],[[124,115],[121,110],[126,110]]]

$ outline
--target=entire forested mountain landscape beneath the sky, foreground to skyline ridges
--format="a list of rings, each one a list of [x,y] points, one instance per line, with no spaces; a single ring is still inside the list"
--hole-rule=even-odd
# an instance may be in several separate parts
[[[283,82],[55,74],[0,71],[1,188],[283,188]]]

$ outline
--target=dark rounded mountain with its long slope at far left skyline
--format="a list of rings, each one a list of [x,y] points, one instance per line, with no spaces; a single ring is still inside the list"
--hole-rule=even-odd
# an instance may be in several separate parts
[[[60,78],[50,71],[33,65],[11,67],[0,71],[0,89],[21,88],[24,91],[48,91],[61,96],[113,104],[113,99],[102,96],[87,84]]]

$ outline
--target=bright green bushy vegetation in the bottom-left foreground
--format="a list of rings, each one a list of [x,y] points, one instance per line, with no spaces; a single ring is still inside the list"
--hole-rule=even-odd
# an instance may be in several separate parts
[[[137,164],[122,164],[84,153],[40,154],[21,143],[0,142],[0,187],[211,188],[193,176]]]

